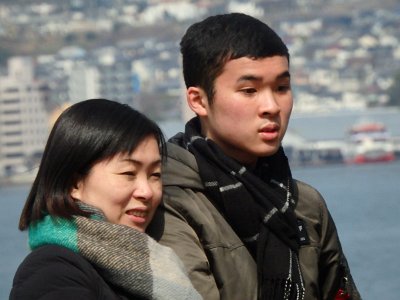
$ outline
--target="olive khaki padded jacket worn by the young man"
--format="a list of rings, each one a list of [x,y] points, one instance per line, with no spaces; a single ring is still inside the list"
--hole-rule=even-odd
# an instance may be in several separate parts
[[[168,143],[163,184],[163,203],[148,233],[175,250],[204,299],[257,299],[256,263],[205,196],[195,157]],[[299,254],[305,299],[334,299],[343,270],[352,299],[359,299],[325,201],[309,185],[295,181],[295,186],[295,212],[310,240]]]

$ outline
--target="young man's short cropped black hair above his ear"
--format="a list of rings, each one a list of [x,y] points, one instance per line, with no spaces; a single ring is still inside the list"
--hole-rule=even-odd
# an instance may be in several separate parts
[[[286,56],[289,51],[267,24],[242,14],[215,15],[191,25],[181,43],[186,87],[204,89],[212,103],[215,79],[227,61],[240,57]]]

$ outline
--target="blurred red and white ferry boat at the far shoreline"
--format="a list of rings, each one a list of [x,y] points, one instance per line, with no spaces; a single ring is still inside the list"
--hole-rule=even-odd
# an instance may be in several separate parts
[[[383,123],[364,122],[349,130],[347,163],[388,162],[396,156],[390,134]]]

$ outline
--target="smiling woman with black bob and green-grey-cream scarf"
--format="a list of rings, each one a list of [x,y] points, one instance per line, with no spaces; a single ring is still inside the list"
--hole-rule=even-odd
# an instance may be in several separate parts
[[[144,233],[164,149],[159,127],[127,105],[64,111],[22,211],[32,252],[10,299],[200,299],[173,251]]]

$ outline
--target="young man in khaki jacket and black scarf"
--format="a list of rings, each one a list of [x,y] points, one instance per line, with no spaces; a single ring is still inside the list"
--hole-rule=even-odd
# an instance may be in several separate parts
[[[196,117],[170,140],[149,233],[207,300],[359,299],[323,198],[291,177],[281,147],[293,96],[280,37],[217,15],[187,30],[181,52]]]

